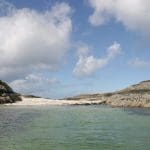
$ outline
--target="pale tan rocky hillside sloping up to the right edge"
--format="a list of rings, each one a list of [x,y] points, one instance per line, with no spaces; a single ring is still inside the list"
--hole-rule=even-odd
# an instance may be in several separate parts
[[[150,80],[113,93],[86,94],[68,100],[101,100],[103,104],[119,107],[150,107]]]

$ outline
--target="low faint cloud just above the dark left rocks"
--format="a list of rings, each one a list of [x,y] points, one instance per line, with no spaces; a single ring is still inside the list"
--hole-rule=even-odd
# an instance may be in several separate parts
[[[37,74],[30,74],[24,79],[17,79],[10,82],[10,86],[16,92],[35,95],[41,94],[42,96],[44,96],[43,93],[45,91],[49,92],[49,95],[51,95],[52,93],[49,90],[59,84],[60,81],[56,78],[46,78]]]

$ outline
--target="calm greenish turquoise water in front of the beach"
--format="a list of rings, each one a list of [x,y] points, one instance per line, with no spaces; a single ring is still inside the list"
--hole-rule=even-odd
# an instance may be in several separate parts
[[[0,150],[150,150],[150,110],[2,106]]]

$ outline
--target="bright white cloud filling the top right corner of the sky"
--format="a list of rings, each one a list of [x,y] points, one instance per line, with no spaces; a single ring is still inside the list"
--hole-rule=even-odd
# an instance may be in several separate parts
[[[127,29],[150,34],[149,0],[88,0],[94,13],[89,21],[94,26],[107,23],[110,19],[121,22]]]

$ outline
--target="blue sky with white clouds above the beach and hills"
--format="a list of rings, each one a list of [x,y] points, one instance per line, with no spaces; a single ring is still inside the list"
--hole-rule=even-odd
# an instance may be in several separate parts
[[[150,79],[149,0],[0,0],[0,79],[48,98]]]

